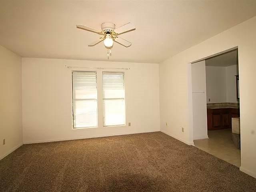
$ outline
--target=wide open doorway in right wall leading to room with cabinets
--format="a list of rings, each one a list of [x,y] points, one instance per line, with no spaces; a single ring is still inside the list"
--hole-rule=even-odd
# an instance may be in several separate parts
[[[194,145],[240,167],[238,48],[191,64]]]

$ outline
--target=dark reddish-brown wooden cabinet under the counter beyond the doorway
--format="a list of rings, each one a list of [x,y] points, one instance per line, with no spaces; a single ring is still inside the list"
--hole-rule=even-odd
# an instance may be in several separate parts
[[[207,109],[208,130],[231,128],[231,118],[239,116],[239,109]]]

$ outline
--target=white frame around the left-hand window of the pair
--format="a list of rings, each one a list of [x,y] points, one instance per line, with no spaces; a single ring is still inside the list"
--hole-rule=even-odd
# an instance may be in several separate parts
[[[74,98],[73,98],[73,95],[74,95],[74,79],[73,79],[73,73],[86,73],[86,72],[95,72],[96,74],[96,94],[97,94],[97,99],[96,99],[96,122],[97,122],[97,125],[96,126],[90,126],[90,127],[78,127],[78,128],[75,128],[74,127]],[[72,70],[71,71],[71,80],[72,80],[72,130],[79,130],[79,129],[90,129],[90,128],[98,128],[98,79],[97,79],[97,70]],[[93,99],[92,99],[93,100]]]

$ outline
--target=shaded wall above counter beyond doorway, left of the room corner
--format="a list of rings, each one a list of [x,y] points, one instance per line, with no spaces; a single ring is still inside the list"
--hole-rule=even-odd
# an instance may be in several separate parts
[[[206,61],[207,62],[207,61]],[[226,102],[226,67],[206,66],[207,103]],[[210,98],[210,102],[209,102]]]

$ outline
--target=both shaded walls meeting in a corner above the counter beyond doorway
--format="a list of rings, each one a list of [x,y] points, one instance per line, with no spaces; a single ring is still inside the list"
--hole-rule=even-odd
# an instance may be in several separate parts
[[[235,77],[237,74],[236,65],[206,66],[207,103],[238,103]]]

